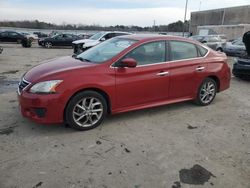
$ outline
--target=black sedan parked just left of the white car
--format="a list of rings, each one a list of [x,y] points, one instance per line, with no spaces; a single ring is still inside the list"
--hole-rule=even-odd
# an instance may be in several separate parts
[[[38,40],[40,46],[51,48],[52,46],[71,46],[72,42],[79,37],[73,34],[57,34],[52,37],[41,38]]]

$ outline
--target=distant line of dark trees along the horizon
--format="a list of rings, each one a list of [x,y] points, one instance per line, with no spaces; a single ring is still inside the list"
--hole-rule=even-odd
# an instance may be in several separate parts
[[[54,29],[54,30],[104,30],[104,31],[155,31],[155,32],[182,32],[184,26],[184,31],[188,32],[189,21],[183,23],[182,21],[177,21],[170,23],[168,25],[157,25],[157,26],[125,26],[125,25],[115,25],[115,26],[100,26],[100,25],[84,25],[84,24],[53,24],[43,21],[0,21],[0,27],[18,27],[18,28],[30,28],[30,29]]]

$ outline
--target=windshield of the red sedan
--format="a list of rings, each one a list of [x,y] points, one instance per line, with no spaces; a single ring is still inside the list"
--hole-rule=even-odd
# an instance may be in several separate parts
[[[100,64],[113,58],[135,42],[136,40],[132,39],[113,38],[97,46],[94,46],[93,48],[90,48],[89,50],[79,54],[75,58],[82,61]]]

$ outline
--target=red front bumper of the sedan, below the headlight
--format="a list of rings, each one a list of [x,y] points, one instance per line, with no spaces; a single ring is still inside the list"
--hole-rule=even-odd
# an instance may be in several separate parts
[[[64,121],[65,103],[61,94],[18,94],[21,114],[37,123],[53,124]]]

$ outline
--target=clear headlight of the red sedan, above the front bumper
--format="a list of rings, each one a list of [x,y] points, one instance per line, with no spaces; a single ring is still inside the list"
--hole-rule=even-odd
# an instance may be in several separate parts
[[[50,80],[39,82],[30,88],[31,93],[56,93],[56,87],[62,83],[63,80]]]

